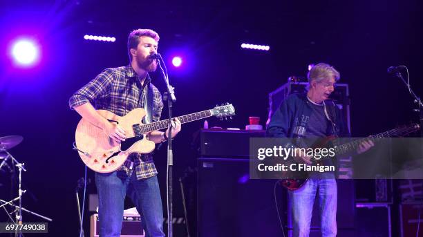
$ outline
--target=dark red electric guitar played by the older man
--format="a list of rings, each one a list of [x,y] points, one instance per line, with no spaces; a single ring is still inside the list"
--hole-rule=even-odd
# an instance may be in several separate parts
[[[322,147],[330,147],[332,146],[334,148],[335,155],[342,155],[346,153],[350,153],[357,150],[357,147],[361,142],[364,142],[365,140],[372,140],[373,142],[377,142],[377,140],[380,140],[381,138],[392,138],[392,137],[402,137],[408,133],[413,133],[415,131],[420,130],[419,124],[411,124],[408,126],[402,126],[397,129],[392,129],[390,131],[386,131],[384,133],[379,133],[376,135],[370,135],[368,138],[362,138],[360,140],[355,140],[352,142],[348,142],[345,144],[340,144],[338,146],[332,146],[332,142],[336,140],[335,137],[327,137],[322,138],[312,146],[312,148],[322,148]],[[293,158],[290,158],[290,160],[287,160],[285,164],[290,165]],[[324,158],[320,159],[318,162],[314,162],[314,164],[321,164],[322,160]],[[292,173],[295,172],[295,173]],[[308,181],[310,178],[310,171],[283,171],[281,177],[283,177],[283,180],[280,181],[281,185],[288,190],[294,191],[301,187],[303,187],[304,184]],[[294,178],[292,178],[294,177]]]

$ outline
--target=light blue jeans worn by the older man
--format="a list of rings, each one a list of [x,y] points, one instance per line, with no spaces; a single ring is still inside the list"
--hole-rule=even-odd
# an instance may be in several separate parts
[[[288,191],[292,213],[293,236],[307,237],[316,193],[319,195],[321,235],[337,236],[337,182],[334,178],[312,176],[301,189]]]

